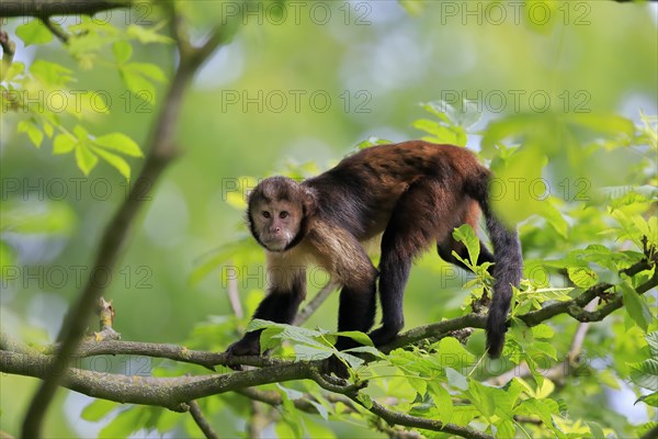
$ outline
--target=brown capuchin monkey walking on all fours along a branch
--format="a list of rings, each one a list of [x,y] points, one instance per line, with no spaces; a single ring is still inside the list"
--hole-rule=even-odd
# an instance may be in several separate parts
[[[452,255],[468,257],[452,232],[463,224],[477,229],[481,211],[494,255],[480,243],[478,260],[472,262],[495,262],[487,349],[491,358],[499,357],[522,258],[515,229],[492,211],[490,179],[490,171],[467,149],[421,140],[360,150],[302,183],[286,177],[264,179],[249,195],[247,210],[251,234],[265,249],[270,278],[253,318],[292,323],[306,296],[304,267],[314,263],[342,285],[340,331],[372,328],[379,278],[382,326],[368,335],[375,346],[386,345],[404,326],[402,294],[412,260],[435,244],[442,259],[466,268]],[[377,270],[362,244],[379,235]],[[246,334],[227,352],[259,354],[260,333]],[[354,346],[347,337],[337,341],[339,350]]]

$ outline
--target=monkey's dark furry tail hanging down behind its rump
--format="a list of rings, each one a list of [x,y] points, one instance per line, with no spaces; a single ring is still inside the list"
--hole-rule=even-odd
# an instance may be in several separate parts
[[[512,300],[512,285],[519,286],[523,259],[521,244],[515,228],[509,228],[494,214],[489,202],[489,183],[491,173],[480,167],[480,172],[475,180],[469,181],[466,192],[476,200],[485,214],[487,233],[494,246],[494,264],[491,275],[494,282],[494,297],[487,317],[487,349],[489,357],[498,358],[504,345],[507,331],[507,314]]]

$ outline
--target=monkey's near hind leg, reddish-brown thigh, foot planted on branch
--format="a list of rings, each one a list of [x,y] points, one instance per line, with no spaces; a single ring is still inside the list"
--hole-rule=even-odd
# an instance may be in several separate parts
[[[439,181],[424,179],[410,185],[398,200],[382,237],[382,327],[371,333],[376,346],[386,345],[402,329],[402,296],[411,261],[435,241],[438,233],[444,235],[445,224],[454,224],[453,199]]]

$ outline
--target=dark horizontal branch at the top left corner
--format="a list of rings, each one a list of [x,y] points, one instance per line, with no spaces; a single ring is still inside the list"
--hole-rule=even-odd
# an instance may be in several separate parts
[[[36,16],[48,18],[52,15],[93,15],[97,12],[112,9],[129,8],[134,1],[114,0],[23,0],[3,1],[0,4],[0,18]]]

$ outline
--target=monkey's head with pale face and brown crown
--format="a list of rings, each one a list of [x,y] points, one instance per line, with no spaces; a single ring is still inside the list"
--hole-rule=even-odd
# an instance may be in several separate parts
[[[313,192],[287,177],[270,177],[249,195],[247,223],[256,240],[270,251],[283,251],[306,234],[315,211]]]

